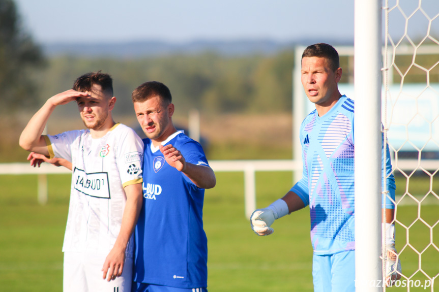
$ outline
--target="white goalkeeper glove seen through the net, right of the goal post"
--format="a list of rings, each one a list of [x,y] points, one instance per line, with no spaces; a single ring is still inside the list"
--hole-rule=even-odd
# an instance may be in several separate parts
[[[401,278],[401,261],[395,248],[395,225],[384,223],[386,229],[386,286],[391,287]]]

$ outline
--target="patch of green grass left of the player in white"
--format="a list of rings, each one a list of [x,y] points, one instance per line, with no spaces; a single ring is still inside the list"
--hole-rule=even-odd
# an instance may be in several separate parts
[[[37,176],[0,176],[0,183],[0,286],[61,291],[69,176],[49,176],[46,206],[37,202]]]

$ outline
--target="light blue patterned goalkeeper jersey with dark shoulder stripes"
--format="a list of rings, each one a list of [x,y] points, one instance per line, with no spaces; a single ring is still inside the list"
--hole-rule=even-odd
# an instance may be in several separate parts
[[[309,205],[314,253],[323,255],[353,250],[354,101],[343,95],[322,117],[317,110],[311,112],[302,122],[300,140],[303,177],[291,191],[298,194],[305,206]],[[389,149],[387,157],[387,189],[395,200]],[[391,200],[384,200],[383,207],[394,208]]]

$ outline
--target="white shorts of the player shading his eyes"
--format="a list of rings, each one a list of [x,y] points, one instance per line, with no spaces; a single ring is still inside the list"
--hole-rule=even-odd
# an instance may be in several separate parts
[[[64,292],[130,292],[133,259],[125,258],[122,276],[107,281],[102,267],[107,255],[82,252],[64,252]]]

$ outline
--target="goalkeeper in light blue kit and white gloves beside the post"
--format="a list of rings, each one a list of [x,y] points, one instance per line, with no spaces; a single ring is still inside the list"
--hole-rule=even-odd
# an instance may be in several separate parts
[[[337,51],[328,44],[307,47],[302,55],[302,85],[315,104],[300,127],[303,177],[282,199],[251,215],[259,236],[273,233],[271,225],[309,205],[313,254],[314,291],[355,291],[354,233],[354,101],[341,95],[342,69]],[[395,180],[390,153],[386,167],[389,197],[395,200]],[[373,194],[371,194],[373,196]],[[394,204],[383,198],[386,212],[386,282],[400,278],[396,263]],[[398,273],[398,272],[399,273]]]

